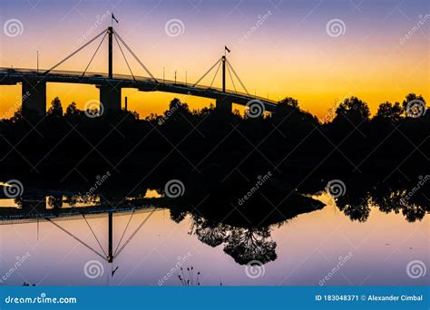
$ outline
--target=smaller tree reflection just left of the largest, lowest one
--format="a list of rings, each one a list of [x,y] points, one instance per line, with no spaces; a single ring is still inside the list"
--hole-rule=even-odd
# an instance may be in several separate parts
[[[201,242],[210,247],[218,247],[227,236],[227,228],[221,223],[193,217],[191,234],[195,234]]]

